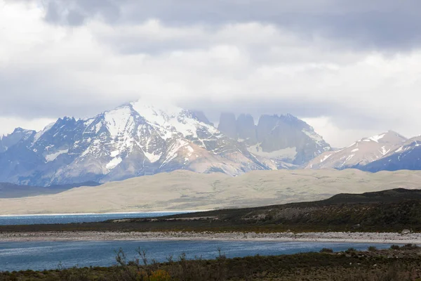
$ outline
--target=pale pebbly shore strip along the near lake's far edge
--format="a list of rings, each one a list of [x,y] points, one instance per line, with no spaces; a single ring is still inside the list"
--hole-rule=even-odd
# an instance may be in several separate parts
[[[401,235],[400,233],[118,233],[94,231],[0,233],[0,242],[116,240],[238,240],[421,244],[421,233],[410,233],[408,235]]]

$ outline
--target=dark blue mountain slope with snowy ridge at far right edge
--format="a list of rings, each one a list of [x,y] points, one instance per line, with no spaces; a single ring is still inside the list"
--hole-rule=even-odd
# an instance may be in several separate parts
[[[364,171],[421,170],[421,136],[410,138],[382,159],[361,167]]]

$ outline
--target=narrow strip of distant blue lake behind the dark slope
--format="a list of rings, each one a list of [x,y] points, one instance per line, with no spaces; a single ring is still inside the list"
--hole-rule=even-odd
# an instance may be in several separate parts
[[[113,218],[150,218],[154,216],[169,216],[184,214],[188,211],[167,211],[153,213],[118,213],[118,214],[55,214],[55,215],[28,215],[28,216],[0,216],[0,226],[53,224],[53,223],[92,223],[107,221]]]

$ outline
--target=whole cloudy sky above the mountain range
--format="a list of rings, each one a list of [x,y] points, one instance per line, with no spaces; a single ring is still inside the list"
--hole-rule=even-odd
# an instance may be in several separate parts
[[[0,135],[149,97],[421,134],[421,2],[0,0]]]

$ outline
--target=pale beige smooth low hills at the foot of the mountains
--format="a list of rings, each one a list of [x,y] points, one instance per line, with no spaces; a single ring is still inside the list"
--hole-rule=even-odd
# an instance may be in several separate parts
[[[0,214],[208,210],[324,200],[339,193],[421,188],[421,171],[252,171],[237,177],[173,171],[54,195],[0,199]]]

